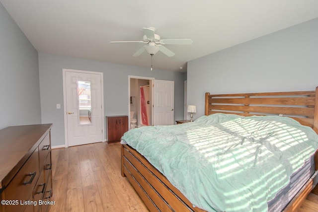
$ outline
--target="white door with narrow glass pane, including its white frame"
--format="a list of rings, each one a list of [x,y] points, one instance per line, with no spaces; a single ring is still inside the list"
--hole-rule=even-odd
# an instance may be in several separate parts
[[[102,73],[63,70],[66,143],[103,141]]]

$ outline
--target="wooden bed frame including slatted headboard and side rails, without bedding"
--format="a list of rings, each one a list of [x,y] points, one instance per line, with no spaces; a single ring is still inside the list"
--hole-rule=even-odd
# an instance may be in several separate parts
[[[318,134],[318,87],[315,91],[217,95],[206,93],[205,115],[214,113],[288,116],[313,128]],[[129,145],[121,145],[121,152],[121,175],[128,178],[151,212],[204,212],[193,207],[190,201],[135,149]],[[315,165],[318,170],[318,150],[315,153]],[[307,181],[284,211],[297,211],[312,191],[315,176]]]

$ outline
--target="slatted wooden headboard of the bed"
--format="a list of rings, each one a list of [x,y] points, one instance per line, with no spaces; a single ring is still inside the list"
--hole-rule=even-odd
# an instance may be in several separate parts
[[[205,93],[205,115],[214,113],[287,116],[313,128],[318,134],[318,87],[314,91]]]

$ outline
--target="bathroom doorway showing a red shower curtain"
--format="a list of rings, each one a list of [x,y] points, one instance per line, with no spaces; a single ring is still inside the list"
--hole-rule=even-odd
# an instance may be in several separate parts
[[[153,126],[153,80],[150,77],[129,76],[130,129]]]

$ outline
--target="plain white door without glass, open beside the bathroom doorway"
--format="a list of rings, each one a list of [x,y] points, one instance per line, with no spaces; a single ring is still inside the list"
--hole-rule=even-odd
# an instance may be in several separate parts
[[[174,123],[174,81],[154,80],[154,125]]]

